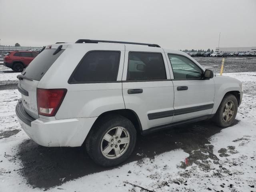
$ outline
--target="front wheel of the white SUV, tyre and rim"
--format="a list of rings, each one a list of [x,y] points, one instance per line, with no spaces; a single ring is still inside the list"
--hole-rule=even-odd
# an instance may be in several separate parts
[[[237,110],[238,102],[236,97],[232,94],[226,94],[212,121],[220,127],[228,127],[234,122]]]

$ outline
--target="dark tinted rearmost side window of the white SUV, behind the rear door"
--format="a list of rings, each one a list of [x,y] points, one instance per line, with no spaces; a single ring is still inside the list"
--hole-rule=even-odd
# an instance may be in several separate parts
[[[120,51],[91,51],[80,61],[68,83],[116,81]]]

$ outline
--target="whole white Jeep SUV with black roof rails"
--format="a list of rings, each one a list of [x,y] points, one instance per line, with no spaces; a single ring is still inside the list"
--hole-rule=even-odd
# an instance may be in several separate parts
[[[85,143],[102,166],[126,160],[138,134],[209,118],[230,126],[243,95],[240,81],[184,52],[132,42],[49,45],[17,77],[28,136],[48,147]]]

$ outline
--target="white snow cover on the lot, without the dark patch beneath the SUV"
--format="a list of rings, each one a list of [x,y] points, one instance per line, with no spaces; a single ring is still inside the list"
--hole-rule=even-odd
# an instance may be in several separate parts
[[[49,190],[256,191],[256,72],[223,75],[243,83],[244,97],[236,118],[239,122],[214,134],[208,144],[190,154],[181,147],[76,180],[65,182],[65,178],[60,178],[63,184]],[[28,139],[15,116],[20,93],[18,90],[1,90],[0,98],[0,192],[42,191],[44,189],[26,184],[19,172],[23,165],[14,158],[18,145]],[[6,131],[12,132],[6,134]],[[201,158],[193,160],[198,154]],[[187,164],[185,158],[188,158]]]

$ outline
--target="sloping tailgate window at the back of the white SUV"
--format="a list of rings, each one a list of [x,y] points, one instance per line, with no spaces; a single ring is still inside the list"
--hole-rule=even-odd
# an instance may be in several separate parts
[[[22,73],[26,77],[40,81],[56,59],[63,53],[64,49],[60,50],[57,54],[53,55],[56,49],[45,49],[42,51],[32,62],[26,67]]]

